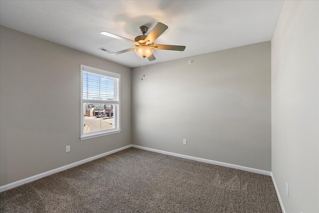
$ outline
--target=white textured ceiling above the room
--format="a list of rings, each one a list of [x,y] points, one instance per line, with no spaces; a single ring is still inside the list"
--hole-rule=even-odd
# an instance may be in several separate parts
[[[128,67],[142,58],[134,51],[111,55],[133,44],[100,34],[108,31],[134,40],[140,26],[157,22],[168,29],[157,44],[184,45],[181,51],[155,50],[154,61],[269,41],[283,0],[0,0],[0,24]],[[147,33],[148,34],[148,33]]]

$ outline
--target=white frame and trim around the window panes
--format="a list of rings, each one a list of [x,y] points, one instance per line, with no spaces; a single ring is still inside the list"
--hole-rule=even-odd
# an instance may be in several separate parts
[[[106,130],[100,130],[100,131],[95,131],[95,132],[89,132],[89,133],[84,133],[84,107],[83,107],[83,71],[85,72],[90,72],[98,75],[103,75],[103,76],[108,76],[108,77],[113,77],[113,78],[118,78],[119,79],[119,101],[118,103],[105,103],[101,101],[100,104],[112,104],[114,106],[114,128],[113,129],[106,129]],[[97,103],[98,104],[98,103]],[[96,137],[101,137],[105,135],[110,135],[110,134],[116,134],[121,132],[121,74],[82,65],[81,64],[81,140],[86,140],[90,138],[96,138]]]

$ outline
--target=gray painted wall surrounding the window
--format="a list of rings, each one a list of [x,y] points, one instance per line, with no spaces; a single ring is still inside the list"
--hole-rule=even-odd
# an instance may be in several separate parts
[[[131,144],[131,68],[3,26],[0,37],[1,186]],[[80,64],[121,74],[121,133],[80,141]]]

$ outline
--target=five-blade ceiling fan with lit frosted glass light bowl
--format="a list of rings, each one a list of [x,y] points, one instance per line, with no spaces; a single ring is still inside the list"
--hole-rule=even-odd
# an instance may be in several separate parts
[[[135,37],[134,40],[124,38],[122,36],[102,31],[101,34],[110,36],[112,38],[117,38],[120,40],[128,41],[130,43],[133,43],[136,45],[136,47],[132,47],[129,49],[121,50],[118,52],[112,52],[113,55],[118,55],[124,52],[129,52],[132,50],[135,50],[136,54],[138,54],[141,57],[147,57],[150,61],[155,60],[155,56],[153,55],[154,49],[163,49],[163,50],[177,50],[177,51],[184,51],[185,46],[177,46],[177,45],[165,45],[165,44],[154,44],[154,41],[168,28],[163,23],[158,22],[155,27],[152,29],[152,31],[148,34],[147,33],[149,27],[147,26],[141,26],[141,32],[143,35],[139,35]]]

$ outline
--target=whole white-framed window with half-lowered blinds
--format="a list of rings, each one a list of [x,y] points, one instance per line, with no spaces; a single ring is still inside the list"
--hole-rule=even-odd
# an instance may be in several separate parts
[[[120,74],[81,65],[81,140],[121,131],[120,78]]]

